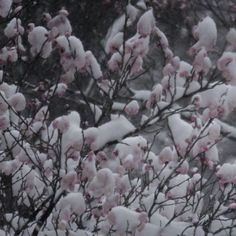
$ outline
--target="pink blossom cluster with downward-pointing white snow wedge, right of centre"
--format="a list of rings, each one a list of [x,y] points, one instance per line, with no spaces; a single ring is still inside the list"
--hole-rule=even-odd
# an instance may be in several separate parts
[[[204,155],[203,161],[209,167],[219,162],[216,143],[220,138],[221,128],[218,123],[212,122],[206,123],[205,126],[201,124],[196,126],[196,123],[189,124],[182,120],[178,114],[175,114],[168,118],[168,124],[179,155],[185,156],[192,150],[194,157]],[[168,153],[164,157],[170,161],[172,160],[171,152]],[[188,169],[188,165],[186,168]],[[185,172],[184,169],[183,166],[180,166],[178,170]]]

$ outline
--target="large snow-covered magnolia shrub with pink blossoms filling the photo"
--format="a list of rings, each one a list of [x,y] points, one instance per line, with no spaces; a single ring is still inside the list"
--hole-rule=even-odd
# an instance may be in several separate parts
[[[97,55],[65,8],[0,0],[0,235],[236,236],[236,31],[220,52],[205,14],[178,55],[157,2],[129,1]]]

